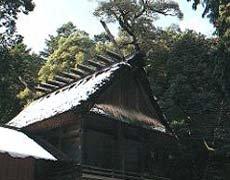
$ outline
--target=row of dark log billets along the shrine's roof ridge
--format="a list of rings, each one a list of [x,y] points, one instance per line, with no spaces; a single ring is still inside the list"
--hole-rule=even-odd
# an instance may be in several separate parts
[[[35,90],[41,92],[42,95],[38,98],[51,94],[56,90],[77,82],[86,76],[92,75],[121,61],[123,61],[123,58],[119,54],[110,50],[106,50],[103,55],[96,54],[96,58],[88,59],[78,64],[77,68],[70,68],[70,72],[60,72],[55,75],[52,80],[39,83],[35,87]]]

